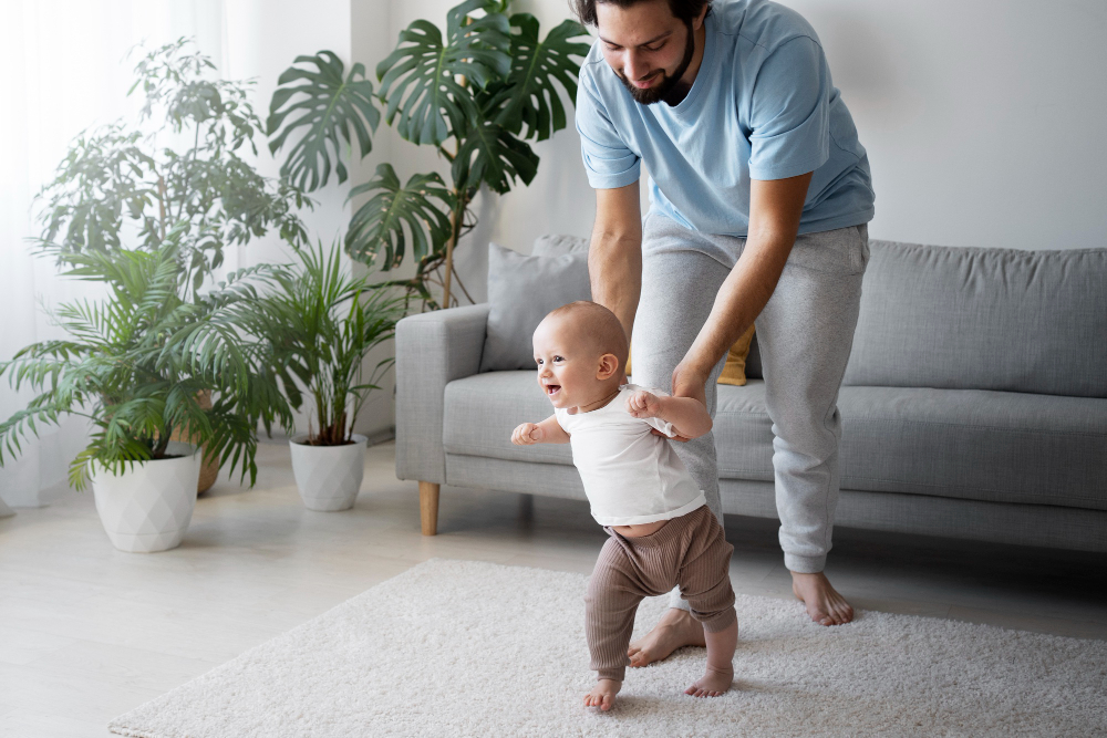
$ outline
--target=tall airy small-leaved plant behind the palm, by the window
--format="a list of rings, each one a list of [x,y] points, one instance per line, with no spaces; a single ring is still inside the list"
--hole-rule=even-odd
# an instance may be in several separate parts
[[[141,56],[131,87],[144,97],[137,119],[77,136],[39,194],[40,249],[64,262],[125,250],[125,235],[134,233],[139,249],[154,251],[172,232],[185,299],[195,301],[228,246],[270,230],[308,242],[297,210],[310,200],[284,179],[262,177],[249,158],[263,129],[250,104],[254,83],[220,80],[214,70],[186,39]],[[177,438],[195,443],[184,429]],[[197,491],[219,471],[219,455],[206,456]]]

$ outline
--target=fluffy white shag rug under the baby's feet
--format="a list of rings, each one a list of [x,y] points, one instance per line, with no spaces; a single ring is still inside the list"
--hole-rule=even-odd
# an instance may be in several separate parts
[[[704,651],[594,676],[586,578],[432,560],[110,724],[142,738],[283,736],[1093,736],[1107,643],[860,612],[823,627],[798,602],[739,595],[735,688],[696,699]],[[665,597],[639,610],[635,636]]]

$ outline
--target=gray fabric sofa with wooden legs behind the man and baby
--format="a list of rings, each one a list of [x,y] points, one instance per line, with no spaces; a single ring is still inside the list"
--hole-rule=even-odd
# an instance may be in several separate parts
[[[1107,249],[871,242],[838,406],[838,526],[1107,551]],[[400,322],[396,475],[584,499],[568,446],[517,447],[546,417],[534,373],[478,373],[487,304]],[[776,517],[756,345],[720,386],[723,507]]]

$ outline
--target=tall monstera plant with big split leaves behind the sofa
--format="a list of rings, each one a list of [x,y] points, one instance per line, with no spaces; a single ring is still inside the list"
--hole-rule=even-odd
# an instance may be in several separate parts
[[[561,95],[576,97],[575,58],[589,50],[573,41],[587,34],[579,23],[566,20],[544,39],[534,15],[508,14],[508,4],[466,0],[447,13],[445,32],[414,21],[377,64],[375,91],[362,64],[348,73],[332,52],[298,56],[270,104],[269,148],[288,146],[281,175],[304,191],[325,185],[332,170],[346,180],[344,152],[370,153],[382,113],[401,137],[433,146],[449,164],[448,183],[437,173],[404,183],[381,164],[350,191],[368,199],[350,220],[346,252],[387,271],[403,263],[410,242],[415,276],[392,283],[431,309],[456,301],[453,250],[476,225],[469,206],[480,187],[504,194],[534,179],[538,156],[528,142],[566,126]]]

